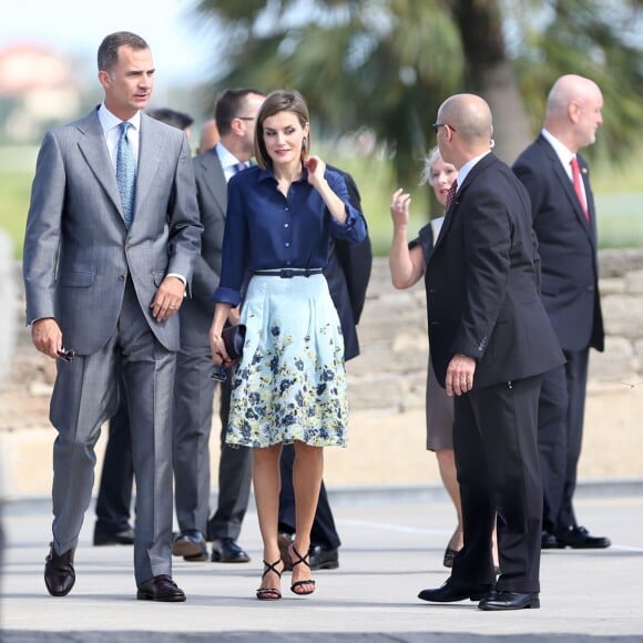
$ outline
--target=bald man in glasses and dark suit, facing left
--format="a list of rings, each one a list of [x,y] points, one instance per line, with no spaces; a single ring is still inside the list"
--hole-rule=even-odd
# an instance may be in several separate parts
[[[419,598],[474,600],[481,610],[534,609],[542,517],[538,396],[542,374],[563,356],[539,296],[529,195],[491,152],[489,105],[474,94],[453,95],[433,127],[442,159],[458,169],[426,286],[431,361],[440,385],[456,396],[465,547],[446,583]]]

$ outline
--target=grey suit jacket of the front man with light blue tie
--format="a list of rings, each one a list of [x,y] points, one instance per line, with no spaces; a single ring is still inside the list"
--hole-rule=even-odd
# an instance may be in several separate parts
[[[202,226],[190,145],[180,130],[141,114],[134,220],[125,228],[98,110],[44,136],[24,239],[27,322],[53,317],[79,355],[113,335],[127,276],[159,341],[180,346],[178,316],[150,305],[165,275],[190,285]]]

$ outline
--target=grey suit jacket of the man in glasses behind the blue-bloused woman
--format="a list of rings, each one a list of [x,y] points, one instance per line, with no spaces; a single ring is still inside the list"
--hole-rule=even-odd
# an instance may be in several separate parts
[[[207,331],[214,314],[212,295],[218,286],[221,275],[227,182],[214,147],[195,156],[193,161],[203,236],[201,254],[194,264],[192,299],[185,302],[181,308],[181,346],[207,348]]]

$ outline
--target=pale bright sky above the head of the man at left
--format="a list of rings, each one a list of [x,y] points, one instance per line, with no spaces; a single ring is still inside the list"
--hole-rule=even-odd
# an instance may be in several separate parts
[[[0,45],[30,41],[95,60],[113,31],[142,35],[154,55],[157,82],[202,81],[214,62],[207,31],[195,18],[195,0],[18,0],[4,7]]]

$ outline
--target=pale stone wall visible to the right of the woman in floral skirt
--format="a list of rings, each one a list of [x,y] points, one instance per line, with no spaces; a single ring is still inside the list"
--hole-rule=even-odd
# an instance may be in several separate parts
[[[600,253],[605,351],[591,353],[590,390],[643,388],[643,251]],[[361,356],[349,363],[351,407],[407,409],[425,404],[428,359],[423,282],[396,290],[377,258],[359,324]]]

